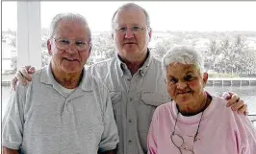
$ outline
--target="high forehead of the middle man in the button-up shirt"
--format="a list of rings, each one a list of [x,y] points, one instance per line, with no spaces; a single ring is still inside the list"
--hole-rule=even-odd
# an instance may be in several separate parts
[[[145,25],[146,17],[139,8],[131,7],[117,11],[114,19],[115,25]]]

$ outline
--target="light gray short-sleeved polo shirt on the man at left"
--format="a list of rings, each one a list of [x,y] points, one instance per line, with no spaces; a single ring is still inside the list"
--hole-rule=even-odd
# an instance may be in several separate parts
[[[118,143],[104,83],[84,71],[80,85],[68,95],[50,67],[35,73],[27,86],[17,86],[2,130],[2,145],[25,154],[96,154]]]

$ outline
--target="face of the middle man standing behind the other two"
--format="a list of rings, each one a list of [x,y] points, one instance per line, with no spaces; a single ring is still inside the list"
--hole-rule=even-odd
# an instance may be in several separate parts
[[[151,38],[143,11],[129,8],[118,11],[114,19],[113,38],[118,55],[128,61],[140,61],[145,57]]]

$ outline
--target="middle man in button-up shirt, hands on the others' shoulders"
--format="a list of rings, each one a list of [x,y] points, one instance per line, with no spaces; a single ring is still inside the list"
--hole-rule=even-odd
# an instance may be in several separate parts
[[[112,28],[117,55],[90,66],[88,72],[101,78],[111,92],[120,138],[117,153],[146,154],[153,112],[169,100],[161,61],[147,49],[152,34],[148,13],[136,4],[125,4],[115,11]],[[26,67],[21,72],[31,80],[33,70]],[[13,87],[17,78],[27,82],[21,72],[13,78]],[[228,104],[232,103],[233,110],[246,110],[237,95],[229,99]]]

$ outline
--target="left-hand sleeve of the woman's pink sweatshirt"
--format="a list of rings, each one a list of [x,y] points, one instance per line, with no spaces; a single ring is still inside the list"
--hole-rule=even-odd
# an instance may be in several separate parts
[[[158,154],[157,151],[157,136],[159,131],[158,126],[158,110],[157,108],[153,114],[152,121],[150,123],[150,128],[147,134],[147,154]]]

